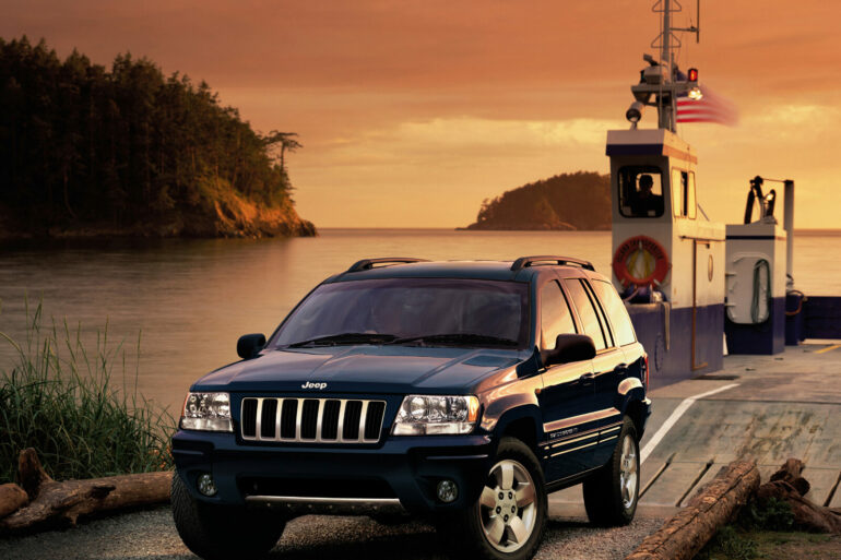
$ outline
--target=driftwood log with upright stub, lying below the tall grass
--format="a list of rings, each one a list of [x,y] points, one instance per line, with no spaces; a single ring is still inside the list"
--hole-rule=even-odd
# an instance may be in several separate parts
[[[158,472],[57,482],[44,470],[33,449],[21,452],[17,468],[29,503],[1,517],[0,532],[42,524],[75,525],[80,515],[165,503],[173,479],[171,472]]]

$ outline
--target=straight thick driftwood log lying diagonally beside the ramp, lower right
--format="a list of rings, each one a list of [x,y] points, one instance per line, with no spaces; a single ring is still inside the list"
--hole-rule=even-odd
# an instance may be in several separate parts
[[[689,504],[643,540],[626,560],[689,560],[759,488],[755,461],[722,467]]]

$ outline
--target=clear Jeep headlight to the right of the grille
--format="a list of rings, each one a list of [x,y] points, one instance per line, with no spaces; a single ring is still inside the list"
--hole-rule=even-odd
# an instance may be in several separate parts
[[[475,396],[408,395],[400,405],[391,433],[470,433],[476,427],[477,419],[478,398]]]

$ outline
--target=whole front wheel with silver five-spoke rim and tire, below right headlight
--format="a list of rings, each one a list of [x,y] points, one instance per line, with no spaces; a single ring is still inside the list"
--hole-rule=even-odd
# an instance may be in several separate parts
[[[438,531],[470,558],[528,560],[546,524],[543,472],[529,446],[513,438],[502,438],[495,460],[478,500]]]

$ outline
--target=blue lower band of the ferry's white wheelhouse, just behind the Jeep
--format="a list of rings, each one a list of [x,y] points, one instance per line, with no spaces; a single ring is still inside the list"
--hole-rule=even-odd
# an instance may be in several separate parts
[[[660,303],[628,306],[637,338],[649,354],[652,389],[718,371],[724,365],[724,305],[703,306],[696,311],[695,364],[692,364],[692,308],[670,313],[670,346],[666,349],[665,310]],[[703,365],[703,367],[698,367]],[[694,366],[697,369],[694,369]]]

